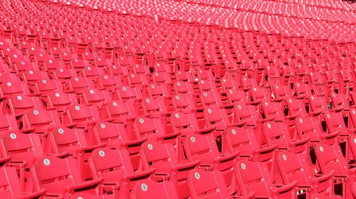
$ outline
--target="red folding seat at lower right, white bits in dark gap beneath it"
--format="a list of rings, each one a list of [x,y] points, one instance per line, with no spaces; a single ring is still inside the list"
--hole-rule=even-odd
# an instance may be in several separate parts
[[[305,194],[306,198],[311,198],[319,193],[334,194],[334,171],[326,174],[313,174],[305,158],[290,152],[283,151],[277,155],[276,159],[283,183],[288,184],[297,180],[297,191],[300,195]]]

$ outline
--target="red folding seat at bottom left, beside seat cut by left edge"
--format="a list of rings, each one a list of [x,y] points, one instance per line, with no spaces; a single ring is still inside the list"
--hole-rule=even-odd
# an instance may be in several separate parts
[[[95,194],[104,180],[95,178],[82,181],[75,158],[54,156],[38,158],[30,173],[36,188],[44,188],[47,190],[47,196],[59,198],[68,198],[74,193]]]

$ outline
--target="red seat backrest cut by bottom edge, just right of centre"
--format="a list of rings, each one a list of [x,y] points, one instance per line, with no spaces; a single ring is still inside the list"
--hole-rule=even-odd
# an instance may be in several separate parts
[[[188,186],[192,198],[229,198],[228,189],[220,171],[194,169],[189,172]]]

